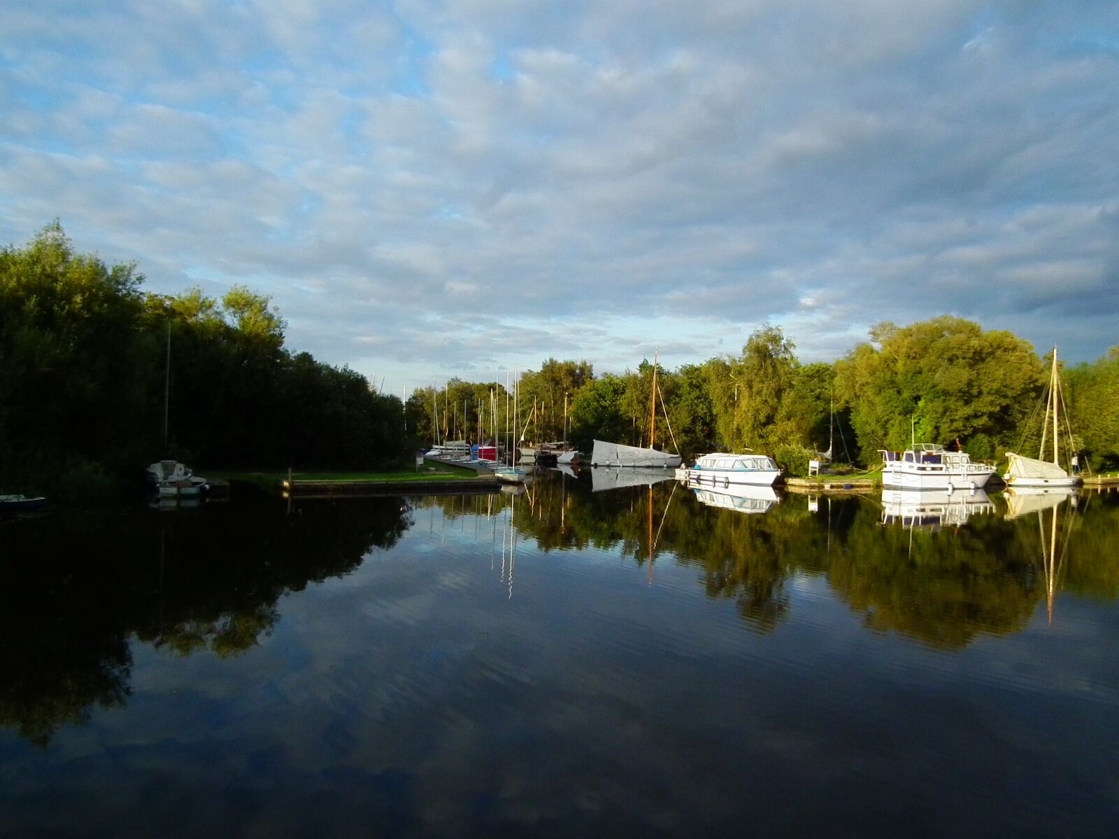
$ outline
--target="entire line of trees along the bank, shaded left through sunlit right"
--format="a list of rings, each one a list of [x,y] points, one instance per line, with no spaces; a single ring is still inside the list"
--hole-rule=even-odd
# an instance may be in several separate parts
[[[223,469],[364,470],[448,439],[595,439],[648,445],[652,365],[595,375],[545,360],[516,381],[417,388],[406,403],[349,367],[284,346],[267,296],[234,286],[164,295],[135,265],[78,254],[60,225],[0,251],[0,491],[104,491],[173,456]],[[802,364],[780,327],[737,355],[660,369],[658,447],[752,450],[803,473],[810,458],[876,463],[911,436],[974,458],[1036,450],[1046,365],[1025,340],[942,315],[880,323],[831,364]],[[1075,447],[1119,465],[1119,347],[1064,370]],[[516,416],[509,411],[516,385]]]

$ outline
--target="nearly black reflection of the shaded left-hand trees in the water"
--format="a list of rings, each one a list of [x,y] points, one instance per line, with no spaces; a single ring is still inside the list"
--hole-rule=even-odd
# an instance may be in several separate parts
[[[346,574],[408,526],[401,499],[111,510],[0,532],[0,726],[38,745],[123,705],[134,635],[176,656],[238,654],[279,598]]]

